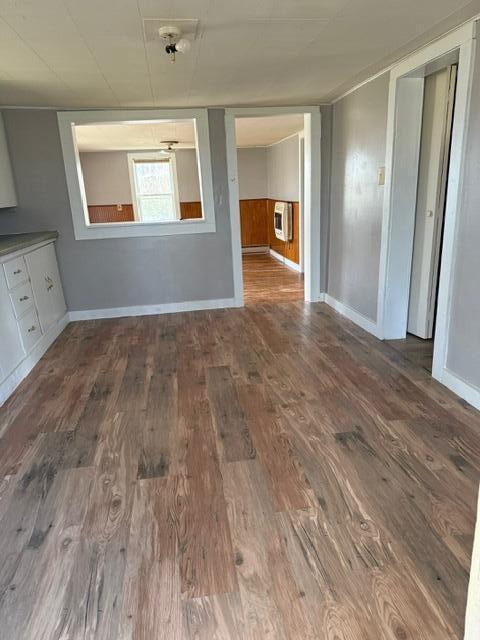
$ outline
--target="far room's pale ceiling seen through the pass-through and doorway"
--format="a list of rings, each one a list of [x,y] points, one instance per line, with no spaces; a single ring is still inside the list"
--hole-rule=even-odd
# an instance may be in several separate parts
[[[237,146],[266,147],[302,131],[303,115],[238,118]],[[176,140],[176,149],[195,146],[193,120],[139,122],[138,124],[89,124],[75,127],[79,151],[122,151],[158,149]]]

